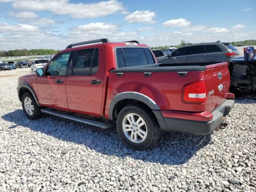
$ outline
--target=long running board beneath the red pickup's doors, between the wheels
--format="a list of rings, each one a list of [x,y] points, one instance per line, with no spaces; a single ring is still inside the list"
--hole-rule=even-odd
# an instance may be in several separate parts
[[[108,122],[105,123],[105,122],[101,122],[101,121],[95,121],[95,120],[92,120],[92,119],[87,119],[87,118],[74,116],[74,115],[63,114],[63,113],[59,113],[59,112],[56,112],[56,111],[50,110],[50,109],[43,108],[43,109],[41,109],[41,112],[44,113],[44,114],[53,115],[53,116],[57,116],[57,117],[62,117],[62,118],[69,119],[69,120],[72,120],[72,121],[76,121],[76,122],[96,126],[96,127],[101,128],[101,129],[109,129],[109,128],[113,127],[112,123],[108,123]]]

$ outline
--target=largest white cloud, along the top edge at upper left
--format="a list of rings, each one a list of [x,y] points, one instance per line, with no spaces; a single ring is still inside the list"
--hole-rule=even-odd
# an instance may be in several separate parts
[[[72,18],[96,18],[123,11],[117,0],[97,3],[70,3],[69,0],[15,0],[12,6],[19,10],[51,11],[56,15],[70,14]]]

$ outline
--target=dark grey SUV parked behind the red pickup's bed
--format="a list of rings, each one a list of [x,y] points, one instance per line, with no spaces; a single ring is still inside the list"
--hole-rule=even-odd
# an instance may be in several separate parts
[[[238,50],[230,43],[200,43],[178,48],[172,54],[158,59],[158,63],[219,62],[238,56]]]

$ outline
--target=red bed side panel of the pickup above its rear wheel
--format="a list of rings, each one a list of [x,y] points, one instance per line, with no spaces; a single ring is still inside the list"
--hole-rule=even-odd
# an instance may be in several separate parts
[[[106,112],[112,99],[122,92],[139,92],[150,97],[161,110],[184,110],[201,112],[206,104],[186,104],[182,102],[182,88],[185,84],[204,78],[204,72],[191,71],[186,77],[178,72],[152,72],[145,77],[143,72],[126,72],[122,77],[109,73]]]

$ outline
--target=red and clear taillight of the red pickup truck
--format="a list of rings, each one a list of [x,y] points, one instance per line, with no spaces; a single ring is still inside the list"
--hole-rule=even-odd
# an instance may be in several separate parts
[[[202,104],[207,100],[206,81],[200,80],[183,87],[182,102]]]

